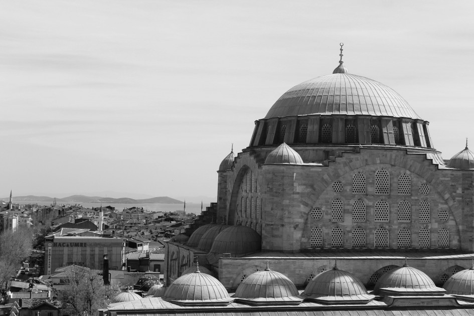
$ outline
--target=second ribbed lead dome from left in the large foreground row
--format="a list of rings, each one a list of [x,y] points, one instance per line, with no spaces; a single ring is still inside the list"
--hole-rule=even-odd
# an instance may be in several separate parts
[[[284,274],[271,271],[257,271],[245,278],[237,287],[234,298],[248,304],[299,304],[302,298],[293,282]]]

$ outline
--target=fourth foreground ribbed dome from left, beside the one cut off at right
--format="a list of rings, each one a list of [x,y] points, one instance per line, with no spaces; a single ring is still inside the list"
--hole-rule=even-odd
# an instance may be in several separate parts
[[[443,295],[445,290],[434,285],[424,272],[408,266],[394,268],[382,275],[374,287],[374,294],[390,295]]]

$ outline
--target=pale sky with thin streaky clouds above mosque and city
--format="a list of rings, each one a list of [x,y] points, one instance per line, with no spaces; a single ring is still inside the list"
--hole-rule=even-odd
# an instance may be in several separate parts
[[[231,143],[247,147],[286,90],[332,73],[340,42],[349,72],[400,93],[449,159],[465,137],[474,147],[472,12],[472,1],[3,1],[0,196],[212,200]]]

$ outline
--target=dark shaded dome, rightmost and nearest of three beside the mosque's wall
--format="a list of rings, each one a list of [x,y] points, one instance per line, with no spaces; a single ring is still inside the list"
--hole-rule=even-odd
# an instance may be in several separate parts
[[[224,253],[232,257],[242,257],[262,248],[260,235],[247,226],[231,226],[217,235],[212,244],[211,251],[207,254],[210,264],[217,264]]]

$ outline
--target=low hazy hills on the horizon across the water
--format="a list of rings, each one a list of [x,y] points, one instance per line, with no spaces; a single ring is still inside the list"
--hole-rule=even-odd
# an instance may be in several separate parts
[[[9,201],[10,198],[4,198],[5,201]],[[46,196],[35,196],[35,195],[27,195],[27,196],[15,196],[13,201],[22,201],[22,202],[53,202],[54,198],[46,197]],[[68,203],[116,203],[116,204],[182,204],[183,201],[179,201],[170,197],[156,197],[150,199],[130,199],[130,198],[104,198],[104,197],[88,197],[85,195],[71,195],[65,198],[56,198],[57,202],[68,202]]]

